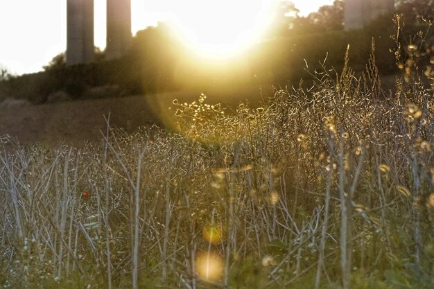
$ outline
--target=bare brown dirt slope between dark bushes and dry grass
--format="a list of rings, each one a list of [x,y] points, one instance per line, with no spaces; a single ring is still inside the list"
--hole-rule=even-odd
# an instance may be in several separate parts
[[[266,92],[265,92],[266,91]],[[75,100],[43,105],[30,105],[20,100],[0,103],[0,137],[8,134],[21,144],[58,143],[81,146],[85,141],[98,141],[105,132],[104,116],[110,114],[110,125],[134,132],[140,126],[171,125],[172,100],[190,103],[197,100],[201,91],[167,92],[146,96]],[[262,96],[272,94],[272,88],[238,87],[238,89],[212,89],[207,93],[207,103],[237,105],[260,103]],[[172,122],[173,123],[173,122]]]

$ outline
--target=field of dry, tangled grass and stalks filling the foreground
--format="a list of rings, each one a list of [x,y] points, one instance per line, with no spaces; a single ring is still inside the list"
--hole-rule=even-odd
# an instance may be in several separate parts
[[[170,130],[4,137],[0,288],[433,288],[433,92],[380,84],[371,58],[261,105],[173,100]]]

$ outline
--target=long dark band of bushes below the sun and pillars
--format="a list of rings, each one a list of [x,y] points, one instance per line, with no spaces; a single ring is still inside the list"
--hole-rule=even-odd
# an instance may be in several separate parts
[[[124,58],[69,67],[58,65],[44,72],[12,77],[0,82],[0,98],[27,98],[33,103],[44,103],[50,94],[64,91],[77,99],[86,97],[89,89],[107,85],[119,87],[125,94],[293,85],[300,78],[309,81],[306,64],[311,70],[319,69],[326,56],[330,67],[341,69],[348,44],[349,64],[356,71],[363,71],[372,37],[379,72],[385,75],[397,71],[394,54],[390,53],[394,46],[390,22],[390,16],[383,17],[364,29],[349,32],[302,34],[294,30],[286,37],[252,46],[237,57],[218,61],[189,51],[167,26],[147,28],[137,33],[130,53]]]

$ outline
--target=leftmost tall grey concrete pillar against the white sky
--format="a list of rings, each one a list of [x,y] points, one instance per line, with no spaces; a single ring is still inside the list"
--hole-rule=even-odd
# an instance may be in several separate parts
[[[94,0],[67,0],[67,64],[94,61]]]

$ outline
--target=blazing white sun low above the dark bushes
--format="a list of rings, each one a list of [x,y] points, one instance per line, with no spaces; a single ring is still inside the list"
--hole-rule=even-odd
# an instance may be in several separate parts
[[[243,51],[259,39],[272,0],[185,0],[175,3],[171,21],[186,44],[207,56]]]

